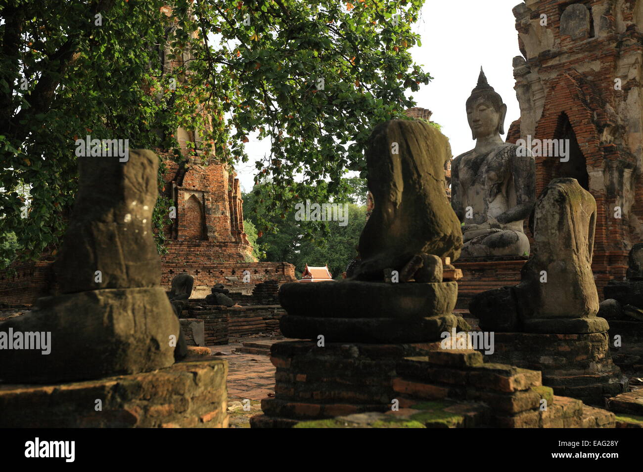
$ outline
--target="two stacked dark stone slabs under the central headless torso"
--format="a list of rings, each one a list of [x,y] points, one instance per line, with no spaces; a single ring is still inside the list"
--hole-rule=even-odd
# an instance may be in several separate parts
[[[282,285],[288,315],[280,329],[289,338],[325,342],[401,343],[440,340],[458,324],[451,314],[456,282],[341,281]]]

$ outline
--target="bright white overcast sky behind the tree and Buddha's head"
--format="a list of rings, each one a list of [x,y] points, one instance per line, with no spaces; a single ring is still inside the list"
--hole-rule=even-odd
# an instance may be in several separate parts
[[[305,0],[303,0],[305,1]],[[411,49],[413,60],[433,76],[428,85],[412,93],[417,107],[430,109],[431,120],[442,125],[453,155],[473,148],[464,104],[484,67],[489,84],[507,104],[505,135],[520,118],[512,59],[520,55],[518,33],[511,9],[520,0],[426,0],[413,28],[422,46]],[[269,140],[250,136],[246,152],[250,161],[237,165],[244,191],[253,186],[254,162],[269,153]],[[253,139],[254,138],[254,139]]]

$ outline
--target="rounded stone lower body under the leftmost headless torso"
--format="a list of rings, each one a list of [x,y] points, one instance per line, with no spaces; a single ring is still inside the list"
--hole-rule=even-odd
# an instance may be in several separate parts
[[[50,353],[1,349],[1,380],[47,383],[162,369],[174,363],[181,335],[160,287],[44,297],[28,315],[0,324],[6,335],[28,332],[50,333]]]

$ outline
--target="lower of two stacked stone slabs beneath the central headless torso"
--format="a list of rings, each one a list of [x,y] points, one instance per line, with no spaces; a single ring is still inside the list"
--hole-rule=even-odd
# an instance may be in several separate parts
[[[326,342],[427,342],[440,339],[441,333],[457,326],[457,317],[430,318],[312,318],[285,316],[280,329],[285,337]]]

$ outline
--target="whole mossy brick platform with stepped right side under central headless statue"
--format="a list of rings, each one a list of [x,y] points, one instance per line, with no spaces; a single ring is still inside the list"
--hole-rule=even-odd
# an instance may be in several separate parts
[[[473,350],[312,342],[273,346],[275,399],[253,428],[613,428],[614,414],[554,396],[541,373],[483,363]],[[395,355],[397,354],[397,355]],[[382,366],[374,365],[382,356]],[[397,358],[397,362],[395,359]],[[316,360],[316,362],[314,362]],[[358,373],[359,372],[359,373]],[[323,382],[323,384],[321,383]],[[328,385],[326,389],[321,389]],[[361,385],[361,387],[359,387]],[[392,401],[399,410],[392,410]]]

